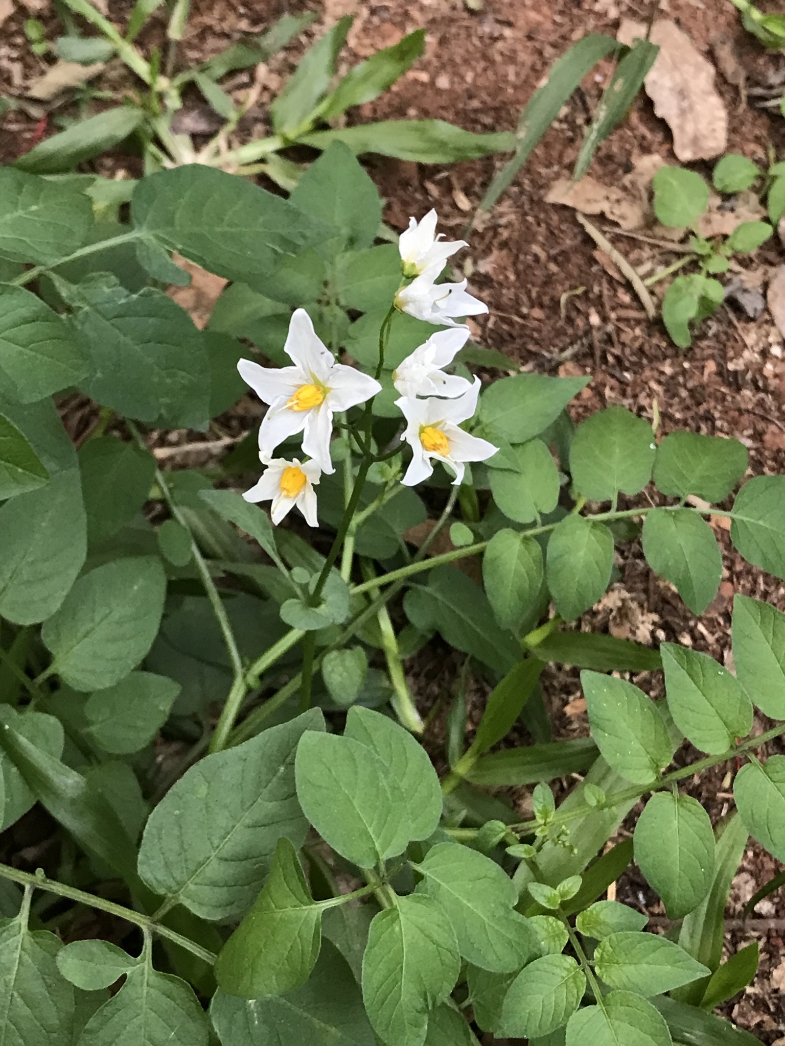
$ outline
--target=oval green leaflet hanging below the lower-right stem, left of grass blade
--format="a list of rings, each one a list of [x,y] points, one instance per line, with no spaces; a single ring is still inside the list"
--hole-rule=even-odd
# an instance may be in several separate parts
[[[714,832],[700,803],[657,792],[638,818],[633,840],[635,862],[669,917],[694,911],[709,893],[715,869]]]

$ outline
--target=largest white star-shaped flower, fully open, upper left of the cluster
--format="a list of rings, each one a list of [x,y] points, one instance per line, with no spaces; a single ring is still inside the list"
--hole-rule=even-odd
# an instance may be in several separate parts
[[[379,382],[367,374],[336,363],[332,353],[317,338],[311,317],[297,309],[289,324],[284,351],[293,367],[261,367],[241,360],[238,370],[270,409],[259,430],[262,459],[289,436],[305,432],[302,450],[322,472],[335,472],[330,459],[330,438],[335,411],[349,410],[381,391]]]

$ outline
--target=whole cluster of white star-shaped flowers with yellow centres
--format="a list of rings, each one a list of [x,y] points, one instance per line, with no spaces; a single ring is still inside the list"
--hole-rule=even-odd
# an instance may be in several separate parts
[[[447,259],[466,243],[441,242],[435,227],[434,210],[420,222],[412,218],[399,244],[404,283],[396,294],[395,308],[447,327],[431,335],[392,374],[401,394],[396,406],[407,423],[403,438],[412,450],[403,477],[407,486],[432,474],[433,459],[449,465],[454,484],[459,484],[466,461],[485,461],[497,449],[459,428],[477,408],[480,382],[478,378],[472,383],[445,373],[444,368],[469,338],[469,328],[456,323],[454,317],[476,316],[487,313],[488,308],[466,292],[466,280],[436,283]],[[284,351],[293,366],[262,367],[251,360],[238,364],[243,379],[268,405],[259,431],[260,459],[267,468],[244,497],[246,501],[271,501],[273,523],[279,523],[296,506],[309,526],[317,526],[314,486],[322,473],[335,472],[330,456],[333,415],[365,403],[382,387],[354,367],[336,363],[305,309],[297,309],[292,316]],[[299,432],[309,461],[272,456],[279,444]]]

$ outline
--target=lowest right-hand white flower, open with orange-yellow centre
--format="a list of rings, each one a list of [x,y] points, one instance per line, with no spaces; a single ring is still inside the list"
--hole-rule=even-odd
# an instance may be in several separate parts
[[[485,461],[498,450],[487,439],[470,436],[458,428],[477,409],[480,381],[457,400],[410,400],[402,396],[396,401],[407,420],[404,439],[410,445],[412,458],[402,482],[406,486],[422,483],[433,473],[431,459],[443,461],[455,473],[453,486],[463,482],[465,461]]]

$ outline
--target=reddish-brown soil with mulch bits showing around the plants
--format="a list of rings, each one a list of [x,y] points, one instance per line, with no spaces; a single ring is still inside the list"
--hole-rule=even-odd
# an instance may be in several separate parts
[[[112,17],[120,22],[128,2],[112,2]],[[256,0],[197,0],[183,61],[201,61],[223,49],[242,32],[261,31],[286,10],[313,8],[314,3],[294,0],[277,3]],[[589,31],[615,35],[620,17],[647,21],[655,4],[648,0],[485,0],[472,13],[463,0],[389,0],[362,3],[358,0],[323,0],[322,19],[306,33],[311,39],[343,14],[354,14],[355,24],[342,61],[346,66],[374,50],[395,43],[401,35],[424,26],[427,53],[394,89],[375,103],[355,111],[353,121],[383,118],[439,117],[474,131],[514,130],[520,110],[541,82],[548,67],[578,38]],[[731,54],[744,70],[746,85],[770,83],[783,72],[785,59],[765,54],[741,29],[737,13],[726,0],[661,0],[661,14],[675,19],[709,56]],[[763,4],[765,7],[766,5]],[[776,9],[777,4],[769,4]],[[45,62],[32,56],[21,25],[33,14],[49,22],[46,0],[20,0],[19,10],[2,29],[0,45],[0,91],[19,90],[23,79],[43,71]],[[145,30],[143,48],[159,37],[159,28]],[[267,69],[260,103],[241,127],[242,136],[265,131],[264,106],[282,78],[293,67],[302,47],[273,59]],[[108,83],[115,89],[124,73],[110,67]],[[576,406],[580,418],[607,404],[623,404],[645,417],[652,417],[656,402],[663,430],[689,428],[706,434],[733,435],[750,452],[752,474],[785,472],[785,359],[783,338],[768,313],[750,321],[735,306],[723,306],[705,322],[693,347],[676,349],[661,324],[649,322],[629,285],[605,258],[598,259],[596,245],[566,207],[543,202],[548,187],[568,176],[578,155],[584,128],[600,97],[608,68],[601,76],[589,76],[582,90],[564,107],[555,127],[535,151],[497,207],[475,225],[470,251],[461,263],[471,277],[471,288],[490,308],[480,318],[477,339],[501,350],[525,370],[560,374],[591,373],[593,381]],[[731,78],[736,78],[732,75]],[[105,86],[99,79],[98,85]],[[231,82],[242,93],[251,74],[240,73]],[[785,120],[769,116],[745,103],[738,84],[718,75],[718,88],[730,115],[732,152],[765,162],[770,145],[778,156],[785,150]],[[49,134],[51,121],[39,121],[44,107],[15,111],[0,121],[0,155],[6,162],[29,147],[36,135]],[[195,99],[184,114],[204,119]],[[609,185],[619,184],[634,160],[659,154],[677,162],[671,135],[654,115],[651,104],[638,98],[629,119],[605,142],[591,174]],[[368,162],[387,199],[385,218],[403,228],[410,214],[422,214],[431,206],[440,212],[441,226],[458,236],[467,213],[473,211],[501,157],[489,157],[450,167],[426,166],[375,158]],[[115,158],[115,167],[133,172],[132,158]],[[709,165],[698,165],[703,174]],[[595,220],[606,228],[603,220]],[[613,245],[634,266],[650,262],[667,265],[674,255],[620,235]],[[755,278],[763,278],[767,267],[785,260],[778,247],[766,247],[741,267]],[[659,290],[660,285],[657,285]],[[568,298],[564,295],[569,292]],[[196,306],[195,306],[196,308]],[[618,635],[644,641],[677,640],[705,651],[720,660],[730,656],[731,601],[735,591],[757,595],[785,609],[785,586],[746,566],[733,552],[727,535],[717,524],[725,549],[725,569],[720,593],[709,611],[695,620],[674,590],[648,570],[640,546],[633,545],[620,562],[622,578],[600,608],[587,615],[583,627],[609,628]],[[423,664],[412,673],[424,703],[447,689],[455,665]],[[652,690],[654,683],[642,685]],[[585,734],[577,674],[551,670],[544,681],[547,703],[559,736]],[[782,749],[781,749],[782,750]],[[728,809],[730,782],[720,769],[691,786],[691,794],[706,805],[713,818]],[[740,908],[763,883],[779,870],[757,846],[750,846],[735,883],[728,916]],[[652,896],[633,870],[619,884],[620,900],[650,907]],[[728,1015],[767,1044],[785,1043],[785,1006],[780,985],[780,965],[785,927],[785,897],[771,895],[759,905],[758,920],[744,927],[734,923],[728,932],[731,951],[759,939],[761,967],[753,986],[727,1007]],[[769,920],[769,922],[766,922]]]

